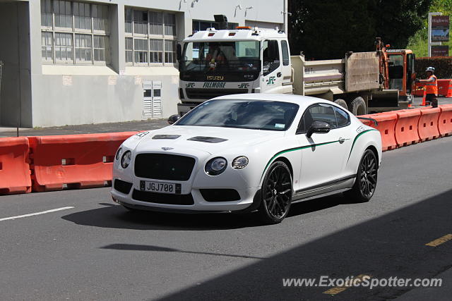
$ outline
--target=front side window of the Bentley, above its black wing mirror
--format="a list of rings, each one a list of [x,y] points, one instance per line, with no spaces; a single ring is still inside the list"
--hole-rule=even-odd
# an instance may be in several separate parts
[[[326,122],[331,128],[338,127],[333,106],[329,104],[315,104],[304,111],[303,117],[298,125],[297,133],[306,133],[314,121]]]

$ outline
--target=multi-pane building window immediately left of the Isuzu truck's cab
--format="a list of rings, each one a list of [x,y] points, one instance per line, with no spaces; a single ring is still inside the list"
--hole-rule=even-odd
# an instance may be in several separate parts
[[[126,8],[126,63],[149,65],[175,63],[176,15]]]

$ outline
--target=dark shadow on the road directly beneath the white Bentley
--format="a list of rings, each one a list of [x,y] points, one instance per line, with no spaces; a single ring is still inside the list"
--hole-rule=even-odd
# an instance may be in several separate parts
[[[117,204],[100,204],[105,207],[76,212],[63,216],[62,219],[83,226],[135,230],[206,231],[263,226],[258,220],[256,213],[172,214],[152,211],[129,211]],[[340,204],[347,204],[340,195],[293,204],[289,217],[335,207]]]

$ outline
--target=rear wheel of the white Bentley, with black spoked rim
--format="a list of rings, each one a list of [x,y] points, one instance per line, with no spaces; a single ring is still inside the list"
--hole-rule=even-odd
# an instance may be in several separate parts
[[[371,149],[366,149],[359,161],[359,167],[355,184],[351,190],[345,192],[345,196],[352,202],[369,202],[374,195],[378,177],[378,161]]]

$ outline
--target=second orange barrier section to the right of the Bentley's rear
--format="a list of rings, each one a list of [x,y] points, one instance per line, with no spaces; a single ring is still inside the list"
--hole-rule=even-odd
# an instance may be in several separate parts
[[[421,117],[420,109],[395,111],[397,114],[395,136],[398,147],[420,142],[417,125]]]

